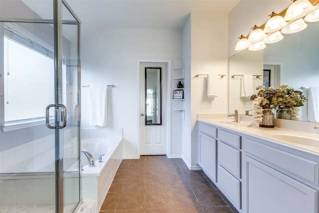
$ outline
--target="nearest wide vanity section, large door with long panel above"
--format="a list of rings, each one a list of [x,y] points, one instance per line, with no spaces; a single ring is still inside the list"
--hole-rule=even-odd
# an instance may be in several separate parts
[[[319,213],[316,159],[254,138],[243,138],[242,151],[244,213]]]

